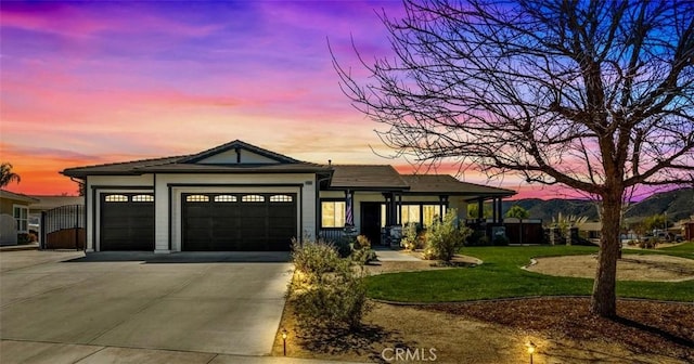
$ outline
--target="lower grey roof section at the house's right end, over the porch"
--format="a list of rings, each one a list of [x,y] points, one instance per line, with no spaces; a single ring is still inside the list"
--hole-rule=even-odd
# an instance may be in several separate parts
[[[450,174],[402,174],[402,180],[410,186],[411,194],[447,194],[460,196],[512,196],[516,192],[505,188],[490,187],[481,184],[462,182]]]

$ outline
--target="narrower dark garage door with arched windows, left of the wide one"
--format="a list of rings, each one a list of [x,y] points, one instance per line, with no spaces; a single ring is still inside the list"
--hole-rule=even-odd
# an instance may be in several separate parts
[[[154,194],[102,194],[100,213],[100,250],[154,250]]]

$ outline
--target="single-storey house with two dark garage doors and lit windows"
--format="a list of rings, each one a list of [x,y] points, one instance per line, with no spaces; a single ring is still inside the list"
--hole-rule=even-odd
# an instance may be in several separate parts
[[[345,225],[378,244],[407,222],[514,191],[387,165],[296,160],[242,141],[197,154],[65,169],[86,185],[87,250],[288,250],[291,238],[337,236]],[[481,209],[480,209],[481,210]],[[479,217],[481,218],[481,217]]]

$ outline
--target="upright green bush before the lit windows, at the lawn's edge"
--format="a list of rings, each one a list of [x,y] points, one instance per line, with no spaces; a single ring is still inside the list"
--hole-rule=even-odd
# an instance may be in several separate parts
[[[455,209],[449,209],[442,221],[435,220],[427,229],[424,259],[450,261],[471,234],[470,227],[458,225]]]

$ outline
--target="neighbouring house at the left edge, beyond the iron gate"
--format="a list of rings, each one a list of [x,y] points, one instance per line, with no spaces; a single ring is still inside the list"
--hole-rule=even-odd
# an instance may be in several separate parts
[[[36,198],[0,190],[0,245],[16,245],[17,234],[29,233],[29,205]]]

